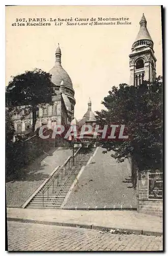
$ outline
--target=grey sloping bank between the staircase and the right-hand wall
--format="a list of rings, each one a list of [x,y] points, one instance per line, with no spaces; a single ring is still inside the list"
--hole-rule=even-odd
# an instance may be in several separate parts
[[[111,154],[97,147],[91,162],[85,166],[77,186],[64,208],[136,208],[136,190],[132,188],[128,160],[118,163]]]

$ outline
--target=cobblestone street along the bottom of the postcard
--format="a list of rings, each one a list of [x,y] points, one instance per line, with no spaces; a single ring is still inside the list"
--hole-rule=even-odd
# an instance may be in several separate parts
[[[158,251],[162,237],[8,222],[9,251]]]

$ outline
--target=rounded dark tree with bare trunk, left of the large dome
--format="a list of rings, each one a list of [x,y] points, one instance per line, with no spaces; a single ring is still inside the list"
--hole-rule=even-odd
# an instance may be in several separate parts
[[[19,114],[24,110],[22,118],[33,114],[32,131],[35,131],[37,111],[46,103],[52,104],[54,84],[51,75],[41,69],[26,71],[13,77],[6,89],[6,103],[9,111]]]

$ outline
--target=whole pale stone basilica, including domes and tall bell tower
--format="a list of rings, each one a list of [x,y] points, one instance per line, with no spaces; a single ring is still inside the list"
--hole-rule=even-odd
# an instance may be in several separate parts
[[[143,14],[140,22],[139,32],[133,42],[129,55],[130,66],[130,85],[138,86],[143,80],[153,81],[156,77],[156,57],[153,50],[153,40],[147,29],[147,20]],[[74,118],[74,90],[73,84],[68,73],[63,69],[61,63],[61,49],[58,46],[55,52],[55,65],[49,71],[52,75],[52,82],[55,84],[55,95],[52,106],[46,105],[45,108],[37,112],[36,129],[43,124],[47,124],[49,129],[53,129],[55,123],[70,125],[95,124],[95,114],[91,109],[91,100],[88,102],[88,111],[80,119]],[[28,133],[32,125],[32,115],[21,120],[21,115],[14,117],[14,127],[17,134]]]

